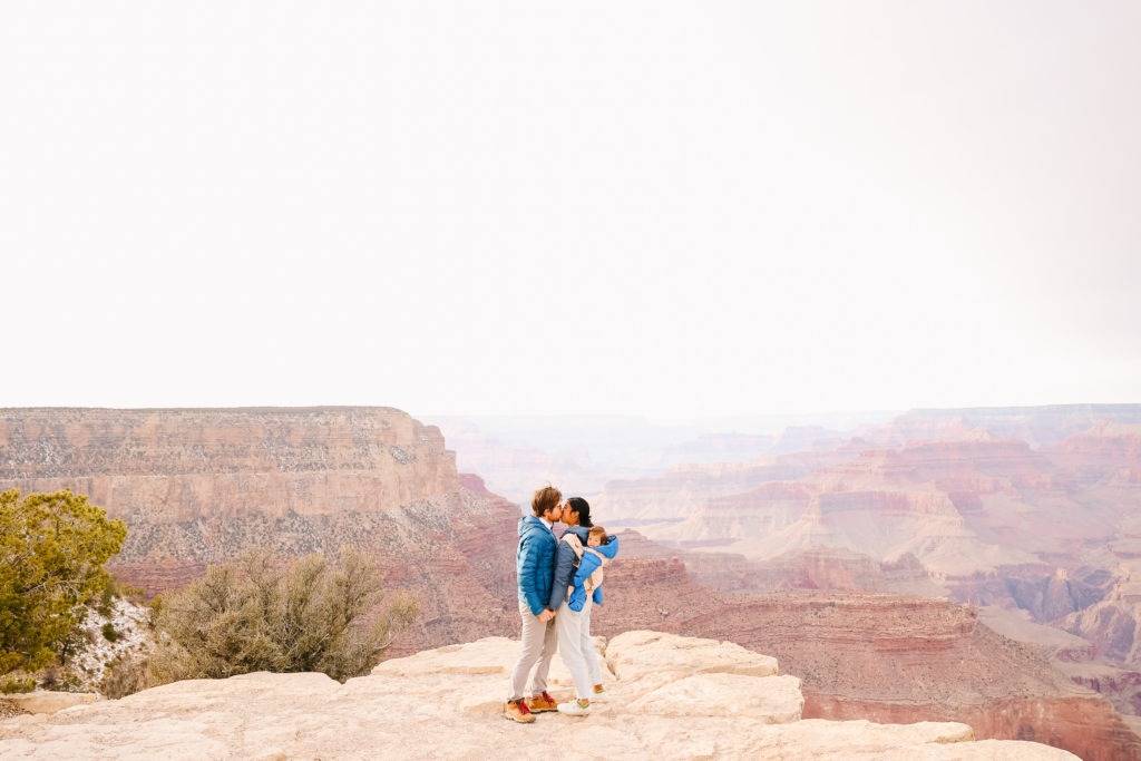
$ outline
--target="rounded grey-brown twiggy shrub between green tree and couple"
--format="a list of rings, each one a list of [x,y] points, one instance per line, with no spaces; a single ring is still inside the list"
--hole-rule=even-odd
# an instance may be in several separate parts
[[[309,554],[282,568],[266,549],[212,566],[155,608],[148,679],[222,679],[253,671],[321,671],[345,681],[380,662],[419,613],[394,594],[381,610],[375,564],[346,549],[333,565]]]

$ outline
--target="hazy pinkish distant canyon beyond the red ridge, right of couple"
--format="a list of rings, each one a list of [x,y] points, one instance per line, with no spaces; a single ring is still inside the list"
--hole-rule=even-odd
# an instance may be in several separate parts
[[[914,411],[801,445],[613,481],[596,511],[722,591],[1025,610],[1082,638],[1055,654],[1077,683],[1141,710],[1141,405]]]

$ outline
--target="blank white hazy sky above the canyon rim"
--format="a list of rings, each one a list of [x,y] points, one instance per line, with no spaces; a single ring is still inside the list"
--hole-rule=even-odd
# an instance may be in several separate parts
[[[1141,402],[1141,3],[0,5],[0,406]]]

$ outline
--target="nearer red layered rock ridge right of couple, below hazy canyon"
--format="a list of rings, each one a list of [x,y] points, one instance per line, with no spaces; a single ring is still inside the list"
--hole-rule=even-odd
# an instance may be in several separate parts
[[[677,558],[620,558],[592,620],[601,634],[652,626],[771,653],[803,679],[806,717],[937,717],[968,723],[978,737],[1034,739],[1086,761],[1141,760],[1141,738],[1104,698],[949,600],[726,596],[695,584]]]

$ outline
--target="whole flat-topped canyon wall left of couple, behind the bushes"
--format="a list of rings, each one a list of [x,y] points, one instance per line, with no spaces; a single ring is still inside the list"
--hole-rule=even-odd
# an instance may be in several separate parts
[[[110,568],[149,593],[243,548],[375,558],[422,616],[395,651],[502,633],[518,507],[439,430],[383,407],[0,410],[0,488],[71,488],[128,525]],[[507,550],[510,553],[510,550]]]

